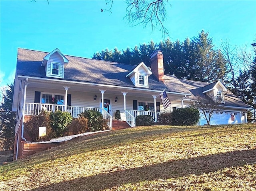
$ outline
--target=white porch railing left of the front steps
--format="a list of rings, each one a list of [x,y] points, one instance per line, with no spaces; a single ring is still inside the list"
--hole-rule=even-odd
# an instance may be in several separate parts
[[[57,104],[42,104],[42,103],[26,103],[24,108],[25,115],[38,115],[40,111],[65,111],[64,105]],[[78,118],[78,114],[86,111],[86,110],[94,110],[102,113],[103,118],[109,120],[108,126],[112,127],[112,116],[106,111],[102,110],[102,108],[92,108],[92,107],[82,107],[82,106],[67,106],[67,112],[70,112],[73,118]]]

